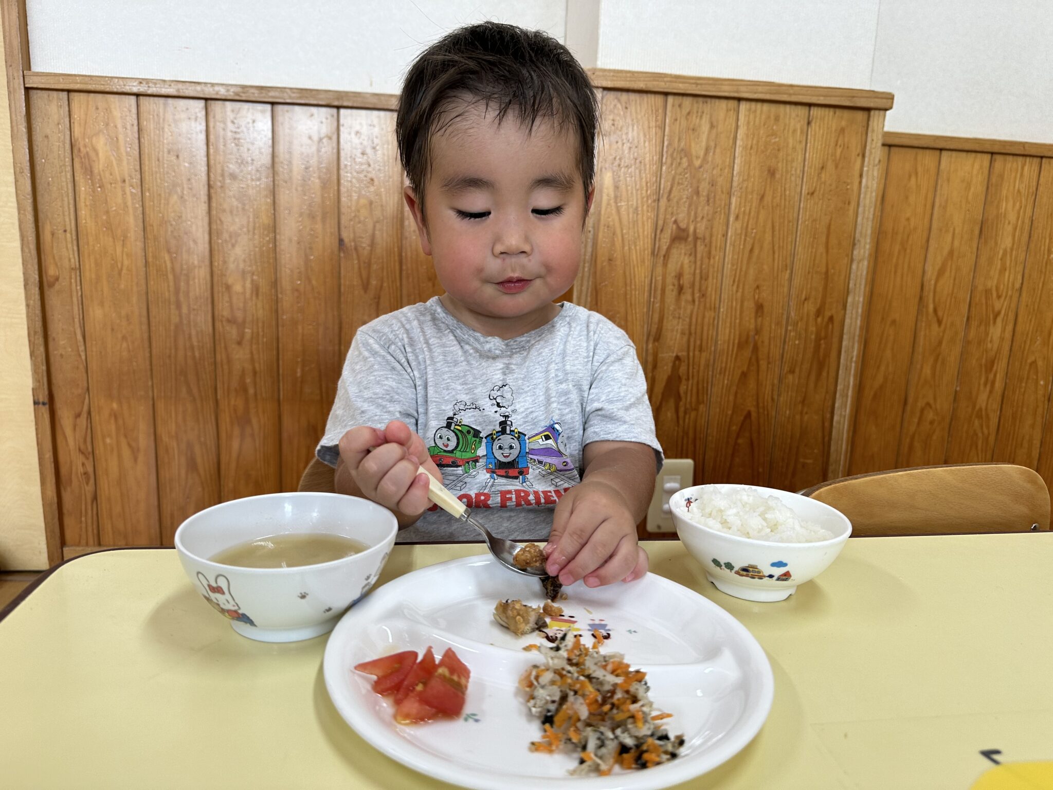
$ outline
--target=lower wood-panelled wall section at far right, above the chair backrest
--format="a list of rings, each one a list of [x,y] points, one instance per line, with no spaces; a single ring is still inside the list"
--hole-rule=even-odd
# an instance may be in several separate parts
[[[849,472],[1009,461],[1053,487],[1053,146],[889,139]]]

